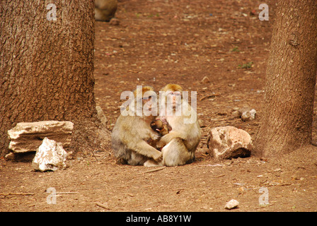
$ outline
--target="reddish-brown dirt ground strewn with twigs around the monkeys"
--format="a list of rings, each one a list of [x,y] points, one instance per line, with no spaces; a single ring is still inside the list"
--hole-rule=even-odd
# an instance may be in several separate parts
[[[236,126],[254,138],[260,125],[270,20],[260,21],[253,0],[119,1],[119,24],[96,22],[96,102],[111,130],[120,114],[120,93],[136,85],[160,90],[178,83],[197,91],[202,141],[190,165],[149,172],[117,165],[111,150],[77,153],[69,167],[35,172],[30,162],[0,160],[1,211],[317,211],[316,150],[282,159],[257,157],[215,162],[207,148],[209,129]],[[209,83],[202,82],[207,76]],[[254,121],[234,117],[252,107]],[[317,109],[317,108],[316,108]],[[315,120],[316,121],[316,120]],[[316,137],[316,123],[313,126]],[[48,204],[47,189],[56,189]],[[260,188],[266,192],[261,193]],[[259,199],[268,198],[260,206]],[[232,198],[234,210],[224,209]]]

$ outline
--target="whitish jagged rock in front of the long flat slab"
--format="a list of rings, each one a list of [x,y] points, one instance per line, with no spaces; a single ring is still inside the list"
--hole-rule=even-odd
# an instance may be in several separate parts
[[[45,172],[47,170],[55,171],[65,169],[67,152],[64,150],[62,143],[44,138],[40,147],[36,151],[32,162],[33,169]]]

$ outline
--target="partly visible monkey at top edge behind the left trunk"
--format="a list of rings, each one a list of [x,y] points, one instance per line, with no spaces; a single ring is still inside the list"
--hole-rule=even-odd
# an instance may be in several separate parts
[[[117,11],[117,0],[96,0],[95,1],[95,19],[109,22],[115,17]]]

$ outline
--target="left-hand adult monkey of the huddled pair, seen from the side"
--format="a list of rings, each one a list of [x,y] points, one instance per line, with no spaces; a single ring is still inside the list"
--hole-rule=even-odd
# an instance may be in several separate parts
[[[138,106],[137,101],[139,101],[142,102],[141,108],[146,106],[151,110],[156,107],[156,102],[152,100],[152,97],[156,97],[156,93],[151,86],[141,86],[141,88],[137,86],[133,95],[134,106]],[[135,113],[132,107],[129,111]],[[113,153],[117,160],[128,165],[144,165],[148,160],[161,162],[162,153],[149,145],[149,141],[159,139],[159,133],[150,126],[155,117],[156,115],[152,114],[149,116],[120,114],[111,134]]]

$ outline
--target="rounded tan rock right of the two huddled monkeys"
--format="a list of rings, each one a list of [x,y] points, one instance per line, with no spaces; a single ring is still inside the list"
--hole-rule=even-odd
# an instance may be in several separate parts
[[[214,127],[209,131],[207,147],[217,160],[250,156],[253,148],[248,132],[234,126]]]

